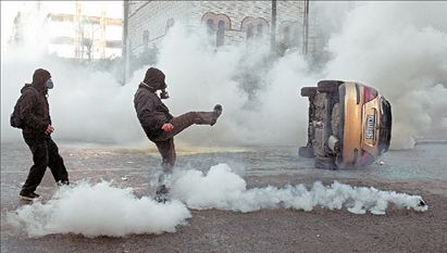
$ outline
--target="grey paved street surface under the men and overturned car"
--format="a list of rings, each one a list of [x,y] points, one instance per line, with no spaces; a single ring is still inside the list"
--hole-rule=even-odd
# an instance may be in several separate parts
[[[191,210],[187,225],[175,232],[124,238],[49,235],[28,238],[5,222],[23,203],[20,188],[30,165],[24,143],[1,143],[1,252],[446,252],[447,144],[423,143],[413,150],[390,151],[380,162],[358,170],[322,170],[297,157],[297,147],[179,149],[177,166],[208,170],[226,163],[248,188],[311,186],[334,180],[421,195],[429,211],[398,210],[386,215],[356,215],[346,208],[310,212],[266,208],[239,213]],[[160,163],[154,150],[60,144],[71,181],[113,180],[132,187],[137,197],[151,195],[150,175]],[[57,187],[47,172],[38,193],[51,199]],[[119,203],[117,203],[119,204]]]

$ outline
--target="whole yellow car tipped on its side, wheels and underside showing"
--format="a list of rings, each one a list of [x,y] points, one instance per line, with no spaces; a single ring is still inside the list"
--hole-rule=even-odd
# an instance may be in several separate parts
[[[365,85],[321,80],[303,87],[309,98],[308,143],[299,155],[318,168],[357,168],[372,164],[389,148],[392,106]]]

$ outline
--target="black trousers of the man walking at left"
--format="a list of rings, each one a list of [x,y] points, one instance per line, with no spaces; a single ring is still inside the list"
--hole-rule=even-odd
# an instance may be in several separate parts
[[[22,191],[34,192],[40,185],[45,170],[50,167],[54,180],[67,182],[69,173],[66,172],[62,156],[59,154],[58,146],[51,138],[30,139],[25,138],[26,144],[33,153],[34,165],[29,169],[28,177]]]

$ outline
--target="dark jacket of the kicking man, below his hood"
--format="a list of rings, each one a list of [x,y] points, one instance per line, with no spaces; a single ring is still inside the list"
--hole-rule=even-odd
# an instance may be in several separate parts
[[[161,102],[156,93],[157,88],[153,89],[150,86],[140,84],[134,97],[134,106],[138,121],[148,138],[152,141],[163,131],[161,126],[173,118],[167,106]]]

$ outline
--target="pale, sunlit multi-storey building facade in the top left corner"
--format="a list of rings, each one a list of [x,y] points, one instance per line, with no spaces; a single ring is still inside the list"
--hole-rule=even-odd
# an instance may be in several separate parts
[[[122,2],[35,1],[26,4],[14,20],[13,42],[33,40],[32,37],[36,37],[33,31],[38,30],[48,53],[61,58],[84,61],[122,55]]]

